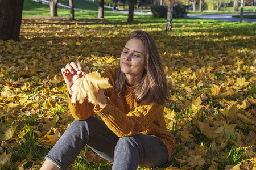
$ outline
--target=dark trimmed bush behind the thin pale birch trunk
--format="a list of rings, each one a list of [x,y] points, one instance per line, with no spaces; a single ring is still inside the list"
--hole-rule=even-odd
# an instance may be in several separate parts
[[[186,18],[187,17],[188,6],[185,5],[175,5],[172,11],[172,18]],[[153,16],[159,18],[167,17],[168,7],[165,5],[152,5],[151,11]]]

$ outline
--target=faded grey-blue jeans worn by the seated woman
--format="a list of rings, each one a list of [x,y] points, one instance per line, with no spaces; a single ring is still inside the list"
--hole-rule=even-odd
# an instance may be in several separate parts
[[[95,117],[73,121],[46,158],[60,169],[68,169],[85,145],[113,162],[116,170],[156,168],[168,160],[167,148],[158,138],[146,134],[119,138]]]

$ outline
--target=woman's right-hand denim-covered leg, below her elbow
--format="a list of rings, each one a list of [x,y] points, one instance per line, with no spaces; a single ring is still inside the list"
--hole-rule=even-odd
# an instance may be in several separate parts
[[[168,160],[168,151],[162,141],[146,134],[121,137],[114,152],[112,170],[156,168]]]

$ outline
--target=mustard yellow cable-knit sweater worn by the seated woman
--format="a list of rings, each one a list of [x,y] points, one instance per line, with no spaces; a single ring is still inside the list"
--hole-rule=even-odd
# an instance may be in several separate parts
[[[82,104],[71,103],[68,95],[68,106],[72,116],[75,120],[85,120],[97,113],[118,137],[141,133],[159,138],[166,145],[170,160],[175,152],[175,138],[166,129],[163,105],[152,105],[146,101],[138,104],[133,94],[135,86],[127,86],[125,95],[117,95],[114,92],[117,71],[118,69],[112,69],[101,74],[102,77],[109,78],[109,83],[113,86],[104,90],[109,100],[102,109],[98,105],[88,103],[87,100]]]

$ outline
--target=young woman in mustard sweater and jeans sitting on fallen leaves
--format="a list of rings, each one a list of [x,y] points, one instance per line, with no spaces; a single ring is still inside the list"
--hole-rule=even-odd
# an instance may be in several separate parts
[[[49,151],[41,169],[67,169],[85,145],[113,162],[112,169],[156,168],[170,160],[175,138],[168,133],[163,115],[167,80],[158,48],[147,32],[134,31],[120,67],[101,74],[113,88],[98,91],[98,105],[87,100],[71,103],[71,86],[85,74],[80,64],[67,64],[61,72],[75,121]],[[102,120],[93,117],[95,113]]]

